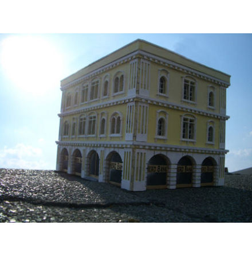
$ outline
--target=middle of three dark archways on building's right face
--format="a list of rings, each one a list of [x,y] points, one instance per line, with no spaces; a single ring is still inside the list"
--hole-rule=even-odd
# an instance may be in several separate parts
[[[192,172],[194,169],[194,160],[185,156],[178,162],[177,168],[177,188],[192,187]]]

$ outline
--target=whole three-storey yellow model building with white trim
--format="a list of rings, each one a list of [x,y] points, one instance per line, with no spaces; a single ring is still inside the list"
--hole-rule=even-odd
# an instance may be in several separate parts
[[[131,191],[223,185],[229,86],[133,41],[61,81],[57,170]]]

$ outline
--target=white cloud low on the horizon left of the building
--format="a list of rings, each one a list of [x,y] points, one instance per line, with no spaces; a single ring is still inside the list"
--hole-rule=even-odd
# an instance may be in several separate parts
[[[42,149],[22,143],[0,149],[0,168],[46,169]]]

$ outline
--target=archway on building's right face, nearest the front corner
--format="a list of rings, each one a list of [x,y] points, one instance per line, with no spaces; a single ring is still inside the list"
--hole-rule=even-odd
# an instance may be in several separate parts
[[[147,189],[167,187],[168,165],[168,159],[162,154],[156,154],[148,161]]]

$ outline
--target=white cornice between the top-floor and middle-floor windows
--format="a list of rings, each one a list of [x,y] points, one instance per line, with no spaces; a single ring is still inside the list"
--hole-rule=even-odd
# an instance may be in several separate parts
[[[156,106],[162,106],[162,107],[167,107],[167,108],[171,108],[171,109],[175,109],[175,110],[186,111],[188,113],[204,115],[206,117],[218,118],[218,119],[223,119],[223,120],[227,120],[230,118],[227,115],[215,114],[215,113],[211,113],[208,111],[200,110],[198,108],[187,107],[184,105],[167,102],[165,100],[157,100],[157,99],[150,98],[147,96],[139,96],[139,95],[137,95],[133,98],[132,98],[132,96],[127,96],[122,99],[109,100],[108,102],[99,103],[99,104],[96,104],[93,106],[82,107],[81,109],[78,109],[78,110],[66,111],[64,113],[58,114],[58,117],[67,117],[68,115],[82,114],[82,113],[85,113],[86,111],[98,110],[100,108],[116,106],[119,104],[125,104],[125,103],[133,102],[136,100],[140,100],[141,102],[144,102],[144,103],[154,104]]]

